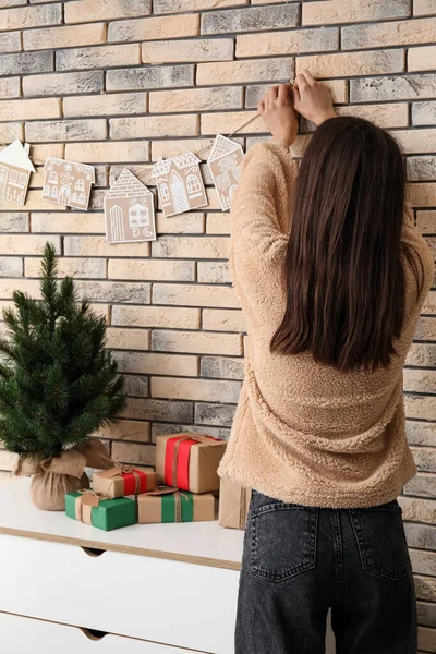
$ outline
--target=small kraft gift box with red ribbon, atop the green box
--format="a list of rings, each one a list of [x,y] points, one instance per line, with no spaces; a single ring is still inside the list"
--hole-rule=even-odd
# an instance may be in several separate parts
[[[140,495],[157,488],[156,472],[145,472],[128,465],[116,465],[93,476],[93,488],[108,497]]]

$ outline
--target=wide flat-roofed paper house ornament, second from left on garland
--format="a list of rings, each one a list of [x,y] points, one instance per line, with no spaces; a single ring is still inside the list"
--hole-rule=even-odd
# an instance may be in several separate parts
[[[65,207],[87,209],[90,186],[94,182],[94,166],[47,157],[44,167],[43,197]]]

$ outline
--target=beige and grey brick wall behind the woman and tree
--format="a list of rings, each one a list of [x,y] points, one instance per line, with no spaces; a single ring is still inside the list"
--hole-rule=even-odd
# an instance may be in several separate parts
[[[112,455],[154,463],[156,435],[227,437],[243,374],[244,320],[229,281],[228,215],[209,205],[165,218],[152,244],[108,245],[102,199],[126,165],[152,185],[159,156],[198,150],[254,114],[271,82],[303,68],[342,114],[400,140],[416,223],[436,243],[434,0],[0,0],[0,141],[97,166],[86,214],[41,201],[40,167],[21,210],[0,206],[0,303],[38,293],[46,240],[62,274],[109,323],[129,408],[108,428]],[[433,98],[433,99],[432,99]],[[264,138],[261,121],[239,136]],[[299,136],[293,154],[304,145]],[[433,153],[433,154],[432,154]],[[204,153],[207,154],[207,153]],[[433,209],[432,209],[433,207]],[[405,371],[408,434],[420,472],[402,498],[416,572],[420,649],[436,651],[436,291]],[[1,327],[1,324],[0,324]],[[433,395],[432,395],[433,393]],[[0,469],[12,457],[0,452]]]

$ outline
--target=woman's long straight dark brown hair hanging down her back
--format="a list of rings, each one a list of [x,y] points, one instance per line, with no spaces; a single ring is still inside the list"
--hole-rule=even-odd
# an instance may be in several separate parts
[[[271,351],[311,351],[341,371],[389,364],[404,319],[404,257],[422,284],[421,261],[401,242],[404,187],[401,150],[384,130],[353,117],[316,130],[296,180]]]

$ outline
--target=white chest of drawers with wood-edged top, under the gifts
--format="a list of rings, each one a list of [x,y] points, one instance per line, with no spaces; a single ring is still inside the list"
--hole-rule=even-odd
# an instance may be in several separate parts
[[[233,654],[243,532],[104,532],[39,511],[28,486],[0,486],[2,654]]]

